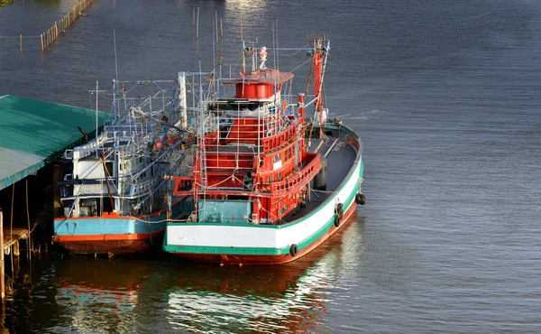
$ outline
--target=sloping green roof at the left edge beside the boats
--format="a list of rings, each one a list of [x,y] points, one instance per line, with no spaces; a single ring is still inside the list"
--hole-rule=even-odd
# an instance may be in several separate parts
[[[112,116],[97,113],[102,127]],[[0,190],[37,172],[96,132],[96,111],[24,97],[0,97]]]

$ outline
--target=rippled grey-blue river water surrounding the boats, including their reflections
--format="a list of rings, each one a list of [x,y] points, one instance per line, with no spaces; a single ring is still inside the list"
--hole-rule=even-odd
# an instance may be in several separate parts
[[[74,4],[16,0],[0,8],[0,35],[36,35]],[[241,11],[245,40],[272,45],[272,25],[280,47],[331,36],[328,107],[362,136],[367,204],[293,264],[41,255],[14,285],[5,328],[540,332],[536,0],[96,0],[43,54],[37,39],[24,39],[23,52],[0,39],[0,94],[92,108],[88,90],[96,80],[109,88],[116,70],[174,79],[199,58],[212,70],[215,13],[216,54],[238,65]],[[280,70],[306,59],[293,58],[280,56]]]

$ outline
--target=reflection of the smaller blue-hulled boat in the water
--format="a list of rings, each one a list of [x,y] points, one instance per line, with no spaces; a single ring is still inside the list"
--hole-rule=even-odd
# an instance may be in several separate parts
[[[55,268],[55,300],[64,315],[59,328],[78,332],[130,331],[136,323],[146,261],[77,256]],[[54,331],[54,328],[52,328]],[[60,330],[61,331],[61,330]]]

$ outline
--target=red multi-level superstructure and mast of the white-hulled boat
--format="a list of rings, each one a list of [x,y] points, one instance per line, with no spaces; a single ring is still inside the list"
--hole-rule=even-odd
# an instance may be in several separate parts
[[[322,115],[319,97],[325,49],[315,50],[311,54],[314,103]],[[250,73],[243,70],[239,78],[222,81],[234,86],[233,98],[206,102],[206,113],[219,119],[219,129],[197,140],[192,175],[173,177],[174,195],[194,195],[193,221],[197,221],[201,199],[240,199],[252,205],[252,217],[241,218],[244,221],[281,224],[307,197],[309,182],[322,169],[321,156],[307,152],[304,95],[298,95],[295,107],[282,98],[293,74],[266,69],[263,56],[261,60],[259,69],[253,66]]]

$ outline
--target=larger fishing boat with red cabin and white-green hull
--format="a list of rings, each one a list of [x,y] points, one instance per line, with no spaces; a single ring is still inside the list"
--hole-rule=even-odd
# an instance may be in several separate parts
[[[194,209],[185,221],[168,222],[164,251],[218,264],[288,263],[365,203],[361,139],[326,108],[330,41],[315,37],[298,49],[311,57],[312,95],[290,94],[294,74],[267,68],[267,51],[278,63],[277,47],[244,44],[238,76],[199,73],[199,82],[217,81],[208,84],[216,91],[199,88],[193,170],[170,176],[173,194]]]

